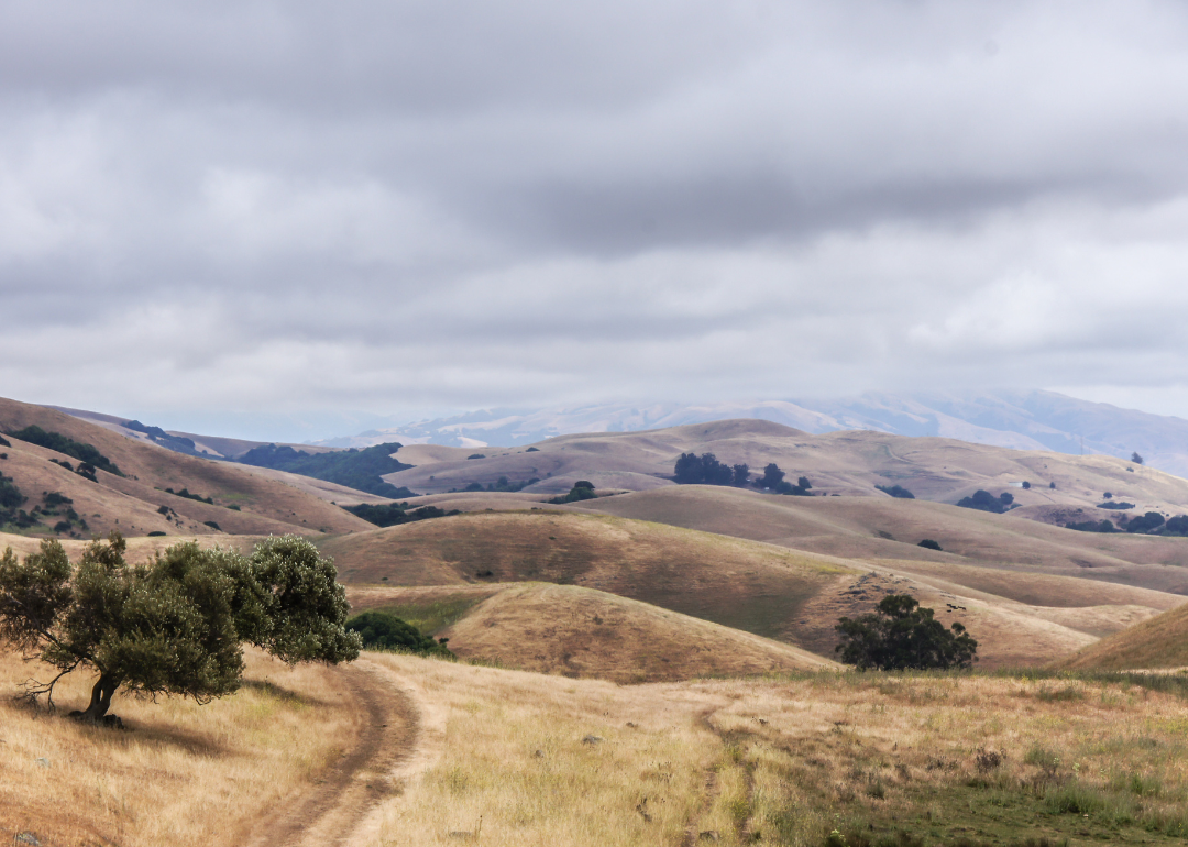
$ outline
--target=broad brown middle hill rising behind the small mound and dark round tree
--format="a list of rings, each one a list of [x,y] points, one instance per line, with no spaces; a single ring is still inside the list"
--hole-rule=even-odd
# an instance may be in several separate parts
[[[388,590],[380,583],[423,587],[416,590],[426,593],[424,603],[407,600],[396,612],[435,618],[423,627],[435,633],[443,621],[472,613],[478,598],[507,583],[543,581],[598,588],[832,657],[839,618],[871,612],[886,594],[910,593],[936,609],[946,626],[969,626],[982,665],[994,668],[1051,662],[1178,601],[1073,577],[1036,581],[1025,573],[1007,575],[1013,587],[982,580],[981,588],[968,588],[953,581],[960,573],[927,573],[928,562],[904,561],[897,569],[898,562],[847,561],[573,512],[470,513],[320,544],[335,558],[356,605],[374,606],[367,592]],[[922,573],[912,573],[914,565]],[[966,570],[978,584],[981,569]],[[1048,602],[1049,596],[1059,602]],[[429,614],[428,606],[437,611]]]

